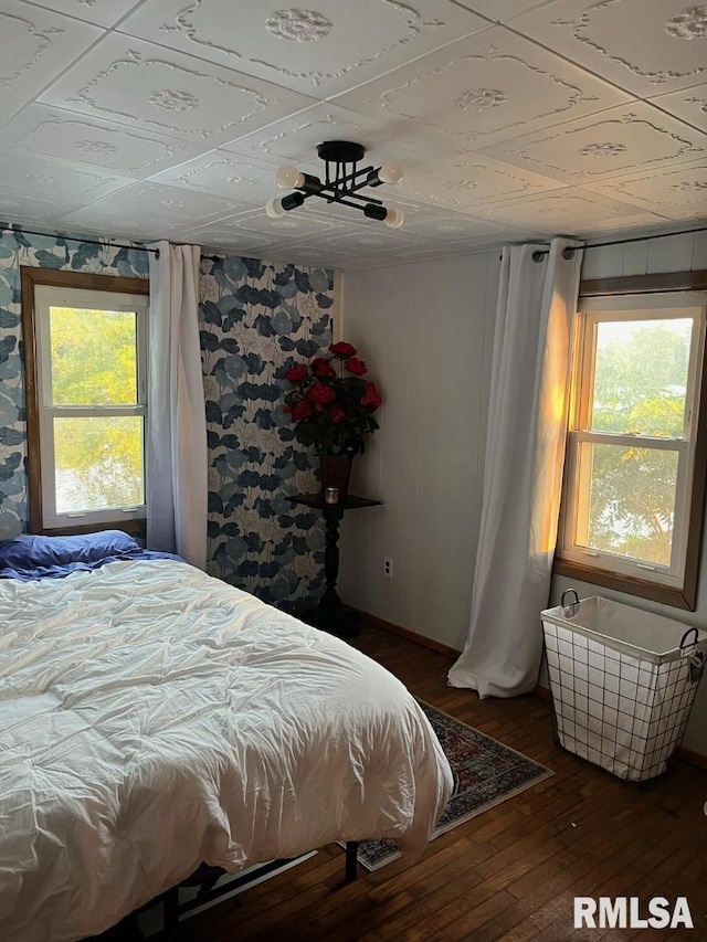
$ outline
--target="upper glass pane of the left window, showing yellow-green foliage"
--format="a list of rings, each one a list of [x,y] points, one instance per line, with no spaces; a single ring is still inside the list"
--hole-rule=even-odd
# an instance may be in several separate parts
[[[50,308],[54,405],[137,402],[137,315],[131,310]]]

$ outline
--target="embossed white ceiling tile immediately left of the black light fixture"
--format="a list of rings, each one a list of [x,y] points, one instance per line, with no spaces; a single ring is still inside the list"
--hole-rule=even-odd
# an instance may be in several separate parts
[[[249,205],[265,205],[277,190],[272,163],[224,150],[211,150],[179,167],[162,170],[150,179],[157,183],[215,193]]]

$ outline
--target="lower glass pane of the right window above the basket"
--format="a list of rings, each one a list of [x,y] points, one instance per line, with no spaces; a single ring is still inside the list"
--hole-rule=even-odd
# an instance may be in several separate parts
[[[577,542],[641,562],[671,564],[678,454],[580,445]]]

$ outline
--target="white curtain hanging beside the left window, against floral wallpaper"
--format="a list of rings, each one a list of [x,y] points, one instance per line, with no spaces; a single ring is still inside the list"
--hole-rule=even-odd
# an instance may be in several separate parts
[[[207,422],[197,245],[150,246],[147,546],[207,565]]]

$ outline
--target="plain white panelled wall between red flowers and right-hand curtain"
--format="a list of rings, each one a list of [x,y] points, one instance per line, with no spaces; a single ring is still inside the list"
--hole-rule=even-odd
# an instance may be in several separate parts
[[[352,490],[383,506],[346,515],[339,590],[455,648],[468,627],[499,267],[496,250],[344,276],[340,334],[384,400]]]

